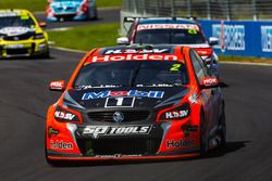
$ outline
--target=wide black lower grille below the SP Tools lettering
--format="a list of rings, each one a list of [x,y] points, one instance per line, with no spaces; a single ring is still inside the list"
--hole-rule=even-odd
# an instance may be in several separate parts
[[[77,145],[84,156],[153,155],[158,152],[160,143],[161,138],[77,139]]]

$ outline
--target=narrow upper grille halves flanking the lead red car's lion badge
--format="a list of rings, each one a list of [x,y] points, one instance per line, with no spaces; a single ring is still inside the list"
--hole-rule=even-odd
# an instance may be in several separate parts
[[[90,112],[88,113],[88,118],[91,121],[114,121],[113,114],[115,112]],[[123,121],[138,121],[148,118],[150,112],[148,111],[125,111],[122,112],[124,115]]]

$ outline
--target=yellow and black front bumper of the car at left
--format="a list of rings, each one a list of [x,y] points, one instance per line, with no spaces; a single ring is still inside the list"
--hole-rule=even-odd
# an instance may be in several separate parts
[[[45,39],[0,42],[0,59],[38,56],[48,52],[49,46]]]

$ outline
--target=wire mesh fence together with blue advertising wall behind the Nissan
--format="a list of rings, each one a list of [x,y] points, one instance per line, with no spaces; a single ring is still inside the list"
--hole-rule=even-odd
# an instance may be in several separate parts
[[[272,0],[123,0],[124,16],[197,17],[217,53],[272,57]]]

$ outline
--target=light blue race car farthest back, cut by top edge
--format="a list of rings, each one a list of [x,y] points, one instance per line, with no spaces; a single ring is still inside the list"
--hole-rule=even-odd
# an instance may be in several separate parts
[[[96,0],[48,0],[48,21],[97,18]]]

